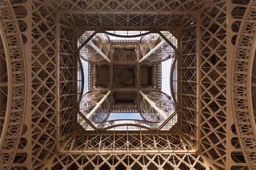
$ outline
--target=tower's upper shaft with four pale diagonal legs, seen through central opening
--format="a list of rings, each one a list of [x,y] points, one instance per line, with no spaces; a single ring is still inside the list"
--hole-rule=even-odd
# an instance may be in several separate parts
[[[82,94],[82,103],[80,103],[78,115],[80,125],[87,130],[90,128],[106,130],[124,126],[124,123],[146,129],[158,128],[161,123],[168,123],[166,128],[173,126],[176,121],[174,102],[170,100],[171,96],[161,91],[160,66],[162,60],[174,58],[174,49],[166,45],[160,35],[151,33],[151,31],[139,35],[142,36],[140,40],[111,40],[107,34],[119,35],[107,32],[102,34],[97,31],[99,29],[94,33],[92,31],[85,32],[78,40],[82,44],[78,47],[78,50],[81,50],[80,57],[90,66],[89,91]],[[92,34],[90,35],[90,33]],[[85,42],[87,45],[82,47],[86,44]],[[171,42],[169,43],[171,44]],[[104,68],[103,71],[101,68]],[[132,69],[132,72],[127,68]],[[147,82],[143,81],[142,83],[143,86],[140,85],[142,68],[144,77],[147,77]],[[150,71],[145,73],[145,68]],[[121,73],[120,70],[127,77],[131,74],[134,75],[132,83],[125,86],[127,82],[118,76]],[[108,81],[102,75],[107,77]],[[148,78],[149,75],[152,77]],[[133,94],[135,95],[133,96]],[[121,98],[121,101],[115,97]],[[128,103],[124,103],[127,101]],[[131,101],[134,103],[129,103]],[[131,107],[140,113],[143,121],[124,119],[119,122],[107,121],[112,110],[125,113],[129,112]],[[170,116],[171,118],[169,118]],[[169,118],[168,121],[167,118]],[[164,125],[160,127],[164,127]]]

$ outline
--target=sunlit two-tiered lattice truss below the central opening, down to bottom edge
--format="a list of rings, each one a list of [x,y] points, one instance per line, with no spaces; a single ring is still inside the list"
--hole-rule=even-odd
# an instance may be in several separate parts
[[[194,154],[196,150],[187,147],[178,135],[146,135],[142,132],[135,135],[74,135],[61,149],[65,154],[59,154],[53,160],[52,168],[206,169],[203,159]],[[83,164],[78,164],[81,161]]]

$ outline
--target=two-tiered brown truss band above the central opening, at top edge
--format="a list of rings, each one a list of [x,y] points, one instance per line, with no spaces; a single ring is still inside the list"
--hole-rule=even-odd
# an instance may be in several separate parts
[[[142,30],[145,27],[180,27],[190,21],[191,17],[204,1],[60,1],[54,0],[56,8],[70,11],[67,18],[74,26],[92,28],[110,27],[113,30],[125,29],[127,26]],[[127,13],[129,11],[129,13]],[[177,11],[171,12],[171,11]],[[184,11],[188,11],[185,12]],[[168,13],[166,13],[168,12]],[[129,14],[129,15],[127,15]]]

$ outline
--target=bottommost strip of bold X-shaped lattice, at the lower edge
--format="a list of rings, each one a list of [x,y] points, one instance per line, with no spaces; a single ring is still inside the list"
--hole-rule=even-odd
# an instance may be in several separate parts
[[[52,169],[193,169],[206,166],[196,154],[60,154]]]

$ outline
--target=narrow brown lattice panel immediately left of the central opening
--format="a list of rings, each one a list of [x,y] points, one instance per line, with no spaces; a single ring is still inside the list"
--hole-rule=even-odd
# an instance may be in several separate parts
[[[74,101],[76,101],[74,79],[76,79],[76,61],[73,57],[73,28],[60,19],[60,142],[65,141],[73,130]]]

